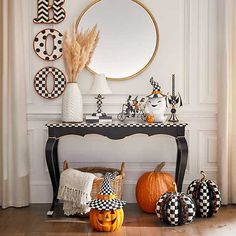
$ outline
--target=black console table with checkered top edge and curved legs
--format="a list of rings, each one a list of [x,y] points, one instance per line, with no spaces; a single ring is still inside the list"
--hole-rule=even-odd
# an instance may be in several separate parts
[[[53,187],[53,200],[47,215],[53,215],[57,204],[60,170],[58,164],[57,146],[60,137],[65,135],[100,134],[110,139],[122,139],[132,134],[147,135],[166,134],[176,138],[177,159],[175,181],[178,191],[182,190],[183,179],[188,159],[188,145],[185,139],[185,123],[48,123],[48,140],[46,144],[46,161]]]

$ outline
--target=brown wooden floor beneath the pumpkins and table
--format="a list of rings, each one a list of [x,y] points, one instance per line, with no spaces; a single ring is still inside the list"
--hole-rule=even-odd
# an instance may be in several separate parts
[[[145,214],[136,204],[125,206],[125,221],[119,231],[94,232],[86,218],[61,217],[60,211],[47,217],[48,204],[32,204],[26,208],[0,209],[0,236],[236,236],[236,206],[222,207],[208,219],[195,219],[184,226],[170,227],[153,214]]]

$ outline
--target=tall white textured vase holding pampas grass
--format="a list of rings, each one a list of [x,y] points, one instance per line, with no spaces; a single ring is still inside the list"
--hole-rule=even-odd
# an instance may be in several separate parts
[[[82,122],[83,102],[77,83],[68,83],[62,97],[62,121]]]

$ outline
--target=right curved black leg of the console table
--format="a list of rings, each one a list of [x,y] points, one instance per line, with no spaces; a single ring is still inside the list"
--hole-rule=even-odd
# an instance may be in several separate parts
[[[185,137],[177,137],[177,160],[175,168],[175,182],[178,192],[182,191],[184,174],[188,161],[188,144]]]

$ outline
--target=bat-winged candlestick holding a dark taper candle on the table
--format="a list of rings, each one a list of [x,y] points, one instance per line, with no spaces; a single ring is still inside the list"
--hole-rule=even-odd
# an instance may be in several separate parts
[[[171,106],[171,116],[169,121],[170,122],[178,122],[178,118],[176,116],[176,108],[177,106],[183,106],[182,98],[180,94],[175,95],[175,75],[172,74],[172,94],[168,96],[168,102]]]

